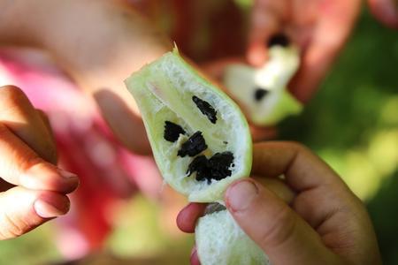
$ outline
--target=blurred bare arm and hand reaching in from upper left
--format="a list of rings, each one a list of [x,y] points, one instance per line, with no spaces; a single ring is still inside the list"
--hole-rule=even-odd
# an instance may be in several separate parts
[[[23,19],[1,29],[23,30],[4,34],[10,38],[0,42],[49,51],[81,88],[94,95],[119,140],[137,153],[148,154],[138,109],[123,80],[170,50],[170,42],[121,1],[17,1],[25,4],[14,4],[8,17]]]

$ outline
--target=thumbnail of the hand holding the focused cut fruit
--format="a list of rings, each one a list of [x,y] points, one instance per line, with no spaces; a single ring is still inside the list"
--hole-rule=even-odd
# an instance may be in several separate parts
[[[256,185],[243,180],[233,184],[226,192],[226,203],[233,211],[241,211],[249,207],[258,193]]]

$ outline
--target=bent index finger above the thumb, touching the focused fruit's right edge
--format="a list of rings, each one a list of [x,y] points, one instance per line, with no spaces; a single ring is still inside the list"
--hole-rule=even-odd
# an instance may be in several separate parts
[[[267,178],[284,175],[296,192],[318,186],[345,184],[341,178],[308,148],[294,142],[263,142],[253,151],[252,174]]]

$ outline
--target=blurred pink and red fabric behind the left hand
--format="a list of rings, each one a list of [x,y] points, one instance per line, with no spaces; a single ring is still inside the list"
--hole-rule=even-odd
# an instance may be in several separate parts
[[[20,87],[44,110],[57,140],[60,166],[80,176],[71,212],[59,222],[58,246],[67,258],[100,248],[111,231],[112,207],[140,189],[156,198],[162,181],[153,160],[119,145],[73,80],[32,49],[0,49],[0,86]]]

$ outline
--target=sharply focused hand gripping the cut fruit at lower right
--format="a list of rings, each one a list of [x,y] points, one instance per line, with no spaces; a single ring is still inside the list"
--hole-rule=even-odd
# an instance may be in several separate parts
[[[276,181],[284,175],[295,191],[292,199],[286,187],[262,186],[251,178],[226,191],[226,207],[272,264],[381,263],[364,205],[316,155],[295,143],[267,142],[255,146],[253,158],[254,176]],[[184,208],[180,229],[194,231],[203,208]],[[195,252],[191,262],[199,262]]]

